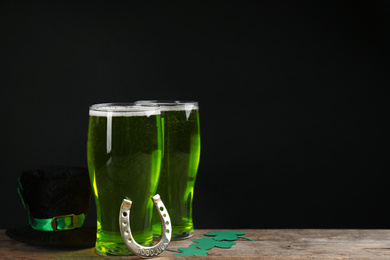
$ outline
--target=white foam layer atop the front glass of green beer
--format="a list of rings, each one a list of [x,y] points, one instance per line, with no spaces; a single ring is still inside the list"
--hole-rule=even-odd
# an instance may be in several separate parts
[[[89,110],[90,116],[151,116],[161,114],[158,109],[145,108],[140,106],[92,106]]]

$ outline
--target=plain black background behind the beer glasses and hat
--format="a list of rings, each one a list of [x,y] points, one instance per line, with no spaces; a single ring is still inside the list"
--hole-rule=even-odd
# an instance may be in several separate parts
[[[199,101],[196,228],[390,228],[388,1],[139,2],[0,2],[0,228],[139,99]]]

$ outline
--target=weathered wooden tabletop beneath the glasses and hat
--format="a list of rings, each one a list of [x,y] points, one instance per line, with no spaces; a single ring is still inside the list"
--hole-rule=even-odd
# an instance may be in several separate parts
[[[193,238],[213,230],[197,230]],[[243,229],[249,241],[238,239],[230,249],[213,248],[206,257],[184,259],[390,259],[390,230]],[[187,247],[191,239],[172,241],[170,249]],[[156,259],[180,259],[165,251]],[[0,230],[0,259],[97,259],[93,248],[57,250],[30,246]],[[138,259],[114,257],[113,259]]]

